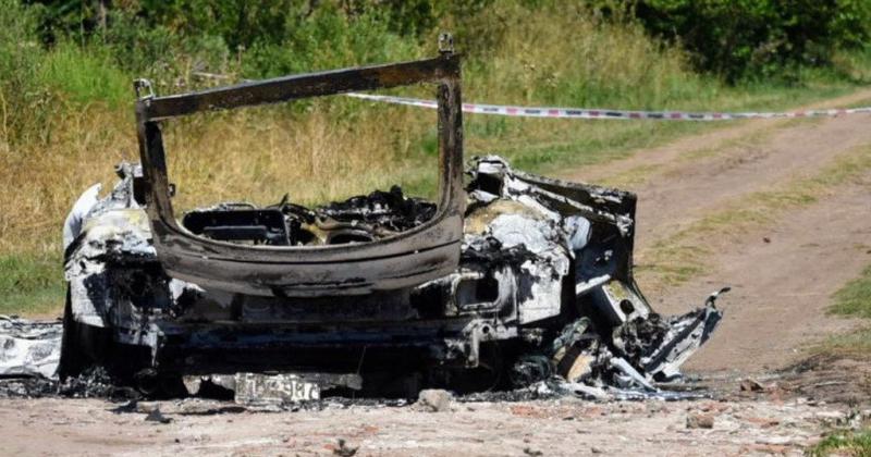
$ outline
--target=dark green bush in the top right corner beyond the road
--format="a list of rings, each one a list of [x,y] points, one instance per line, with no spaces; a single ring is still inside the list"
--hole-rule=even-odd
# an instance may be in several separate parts
[[[702,71],[728,82],[794,77],[871,37],[869,0],[637,0],[652,34],[679,41]]]

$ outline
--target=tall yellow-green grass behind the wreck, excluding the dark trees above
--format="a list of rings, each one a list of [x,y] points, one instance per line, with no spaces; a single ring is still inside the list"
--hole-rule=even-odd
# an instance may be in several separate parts
[[[631,23],[602,22],[576,7],[524,4],[499,2],[442,24],[458,30],[457,46],[466,53],[466,100],[756,109],[800,103],[850,87],[826,81],[814,87],[727,88],[687,70],[679,49],[663,47]],[[352,21],[333,14],[310,21],[284,47],[212,58],[201,57],[203,49],[220,44],[207,40],[205,48],[185,53],[185,46],[193,45],[157,47],[155,40],[131,33],[123,38],[130,46],[139,49],[135,44],[142,41],[150,46],[142,48],[143,55],[155,55],[155,66],[140,73],[127,62],[142,61],[142,55],[119,54],[112,48],[116,44],[61,41],[44,49],[26,9],[15,0],[0,0],[0,312],[61,305],[60,233],[66,211],[95,182],[107,192],[116,162],[137,160],[130,89],[134,77],[157,77],[165,95],[214,85],[213,79],[197,78],[201,71],[217,70],[232,81],[436,52],[434,37],[421,44],[392,34],[377,17]],[[176,49],[175,60],[159,52],[167,49]],[[431,96],[415,88],[402,92]],[[624,157],[709,128],[474,115],[465,122],[468,156],[499,152],[540,172]],[[179,185],[181,208],[224,199],[273,202],[284,193],[295,201],[317,202],[393,183],[432,196],[436,137],[431,111],[341,97],[207,114],[165,126],[170,177]],[[21,279],[22,272],[49,283],[2,280]]]

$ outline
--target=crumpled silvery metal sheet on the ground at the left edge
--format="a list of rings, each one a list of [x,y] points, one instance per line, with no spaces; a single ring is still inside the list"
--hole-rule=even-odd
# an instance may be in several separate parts
[[[60,322],[0,316],[0,376],[54,378],[62,334]]]

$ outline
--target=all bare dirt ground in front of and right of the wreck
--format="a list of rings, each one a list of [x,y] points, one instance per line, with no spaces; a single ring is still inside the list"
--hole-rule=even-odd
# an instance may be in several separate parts
[[[866,90],[826,104],[868,99]],[[834,156],[871,145],[867,125],[864,115],[735,124],[561,177],[619,183],[639,194],[643,264],[657,242],[725,202],[812,175]],[[831,294],[871,263],[871,175],[837,190],[764,227],[712,239],[709,268],[684,285],[646,287],[639,276],[665,313],[733,286],[720,301],[721,328],[686,366],[711,399],[488,397],[455,400],[441,412],[326,400],[268,412],[200,399],[119,408],[124,404],[107,399],[7,398],[0,399],[0,440],[12,455],[800,454],[829,428],[867,419],[871,398],[869,363],[806,350],[859,325],[825,309]],[[161,415],[154,415],[156,407]],[[149,412],[165,420],[146,420]]]

